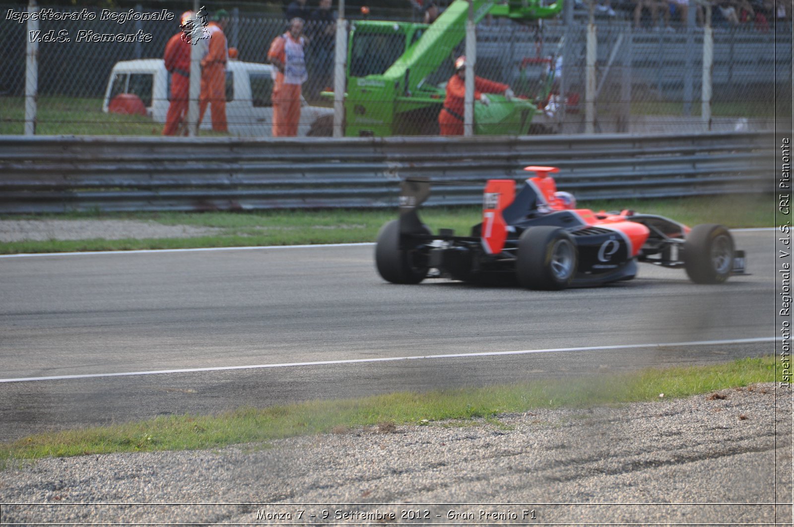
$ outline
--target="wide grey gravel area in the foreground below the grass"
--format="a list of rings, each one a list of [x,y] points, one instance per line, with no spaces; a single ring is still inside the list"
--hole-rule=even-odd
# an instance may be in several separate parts
[[[791,525],[792,391],[717,394],[40,460],[2,523]]]

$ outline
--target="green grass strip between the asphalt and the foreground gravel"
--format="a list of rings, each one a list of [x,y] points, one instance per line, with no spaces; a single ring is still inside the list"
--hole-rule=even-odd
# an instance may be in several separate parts
[[[775,358],[727,364],[647,369],[620,375],[538,381],[479,388],[394,393],[357,399],[316,400],[287,406],[240,408],[225,414],[156,417],[148,421],[43,433],[0,445],[0,465],[48,456],[110,452],[222,448],[390,423],[425,424],[450,419],[492,418],[538,408],[587,408],[658,401],[713,390],[769,383]],[[777,379],[781,381],[782,378]]]

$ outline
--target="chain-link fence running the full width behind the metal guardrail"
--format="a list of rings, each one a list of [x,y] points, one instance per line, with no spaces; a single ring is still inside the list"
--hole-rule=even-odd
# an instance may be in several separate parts
[[[697,7],[684,13],[688,2],[676,0],[658,2],[656,10],[641,2],[639,11],[634,2],[605,0],[593,6],[592,25],[588,6],[576,2],[540,23],[483,17],[476,28],[476,74],[491,83],[478,84],[485,98],[474,104],[475,132],[769,128],[776,110],[791,115],[792,25],[790,10],[759,2],[745,2],[755,6],[752,14],[737,2],[736,21],[718,5],[711,17]],[[462,125],[464,107],[448,97],[457,84],[454,62],[465,53],[465,17],[452,21],[446,13],[458,3],[445,6],[430,26],[418,17],[350,21],[345,135],[435,135]],[[156,12],[58,8],[53,11],[63,15],[42,17],[38,33],[31,33],[22,21],[27,9],[2,6],[0,15],[6,57],[0,133],[25,131],[31,40],[37,44],[35,133],[162,133],[172,79],[162,57],[168,39],[180,32],[180,13],[140,20],[134,13]],[[133,15],[121,22],[125,13]],[[299,135],[331,132],[335,17],[333,11],[310,17],[303,30],[308,80]],[[711,29],[703,27],[707,18]],[[279,13],[230,11],[225,35],[237,58],[226,67],[229,133],[271,135],[268,48],[286,31]],[[200,134],[219,134],[210,121],[206,110]]]

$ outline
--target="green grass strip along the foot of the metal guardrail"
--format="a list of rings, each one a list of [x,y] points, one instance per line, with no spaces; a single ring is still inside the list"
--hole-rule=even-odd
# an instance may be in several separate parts
[[[772,196],[709,196],[692,198],[588,201],[580,206],[592,210],[636,210],[670,217],[686,225],[719,223],[730,228],[775,225]],[[454,229],[467,236],[481,221],[480,207],[426,208],[422,221],[434,232]],[[263,245],[340,244],[372,242],[396,210],[264,210],[257,212],[207,213],[65,213],[2,216],[0,219],[107,219],[145,220],[164,225],[191,225],[219,229],[209,236],[191,238],[146,238],[105,240],[41,240],[0,243],[0,254],[33,252],[130,251],[136,249],[256,247]]]

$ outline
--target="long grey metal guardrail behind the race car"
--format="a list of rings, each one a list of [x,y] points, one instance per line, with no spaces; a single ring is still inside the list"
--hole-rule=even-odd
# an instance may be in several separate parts
[[[542,137],[0,136],[0,213],[396,206],[407,177],[429,206],[480,203],[485,179],[560,167],[588,198],[773,191],[773,133]]]

